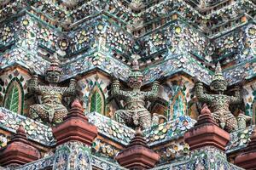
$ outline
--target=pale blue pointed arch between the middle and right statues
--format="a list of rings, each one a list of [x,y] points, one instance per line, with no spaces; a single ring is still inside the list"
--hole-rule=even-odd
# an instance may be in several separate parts
[[[168,120],[172,121],[178,116],[184,116],[187,113],[187,99],[182,89],[178,89],[169,102]]]

